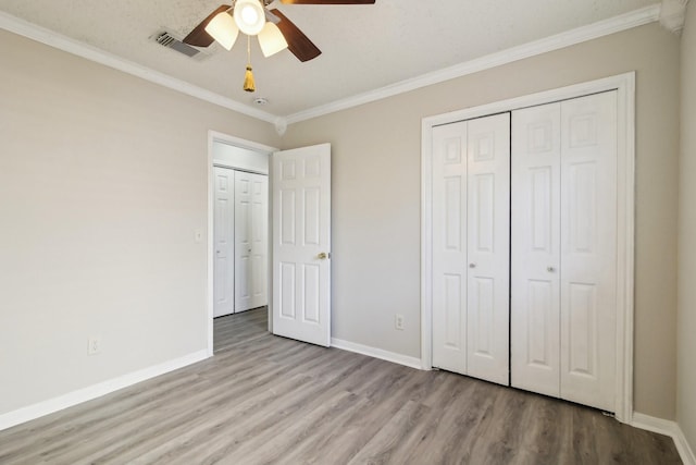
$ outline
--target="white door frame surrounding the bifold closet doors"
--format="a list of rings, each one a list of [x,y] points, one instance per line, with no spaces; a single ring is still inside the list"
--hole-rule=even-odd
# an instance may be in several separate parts
[[[633,419],[634,230],[635,230],[635,72],[423,118],[421,122],[421,367],[433,368],[433,127],[521,108],[617,90],[618,420]]]

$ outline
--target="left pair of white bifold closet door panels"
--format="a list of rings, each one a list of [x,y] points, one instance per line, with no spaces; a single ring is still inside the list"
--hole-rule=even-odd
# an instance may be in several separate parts
[[[508,384],[510,113],[433,129],[433,366]]]

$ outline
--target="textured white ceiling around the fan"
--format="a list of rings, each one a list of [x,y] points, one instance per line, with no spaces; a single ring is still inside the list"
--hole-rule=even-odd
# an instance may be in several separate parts
[[[286,117],[588,25],[655,0],[376,0],[374,5],[278,8],[322,50],[263,58],[252,39],[254,94],[241,89],[246,41],[197,61],[154,42],[184,37],[220,0],[0,0],[0,11],[240,103],[265,97]],[[229,3],[229,2],[227,2]],[[241,36],[240,36],[241,39]]]

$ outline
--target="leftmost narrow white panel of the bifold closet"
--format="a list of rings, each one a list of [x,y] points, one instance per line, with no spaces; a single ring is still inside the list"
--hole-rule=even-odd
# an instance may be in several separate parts
[[[467,372],[467,123],[433,129],[433,366]]]

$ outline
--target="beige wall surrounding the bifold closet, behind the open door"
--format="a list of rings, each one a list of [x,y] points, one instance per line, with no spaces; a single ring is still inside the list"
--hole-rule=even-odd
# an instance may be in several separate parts
[[[650,24],[290,125],[286,148],[333,145],[334,335],[420,355],[423,117],[635,70],[635,408],[673,419],[679,52]]]

